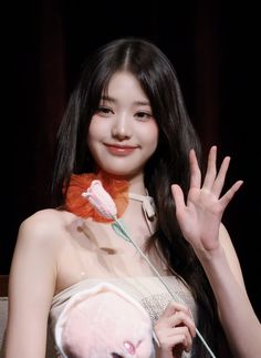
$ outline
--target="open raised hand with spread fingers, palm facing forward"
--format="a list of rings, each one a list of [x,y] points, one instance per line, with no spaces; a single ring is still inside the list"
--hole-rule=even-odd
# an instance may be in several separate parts
[[[209,151],[207,173],[203,180],[201,180],[201,172],[194,150],[189,153],[189,162],[190,188],[186,202],[180,186],[171,185],[176,215],[185,238],[192,247],[199,252],[211,252],[219,245],[219,226],[223,212],[243,182],[236,182],[220,196],[230,157],[223,158],[217,172],[217,146],[212,146]]]

